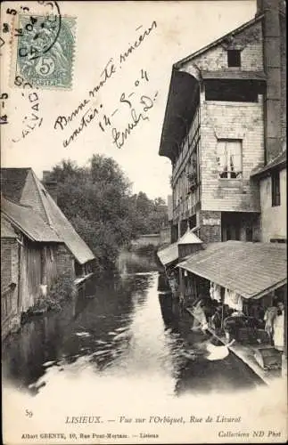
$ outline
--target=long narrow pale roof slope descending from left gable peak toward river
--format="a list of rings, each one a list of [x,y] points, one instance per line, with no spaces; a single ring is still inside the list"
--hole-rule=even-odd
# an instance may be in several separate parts
[[[37,189],[45,207],[45,213],[49,223],[52,225],[54,231],[58,234],[59,238],[66,244],[70,249],[70,252],[75,256],[78,263],[84,264],[87,261],[95,259],[95,255],[86,245],[86,242],[78,235],[70,221],[62,213],[61,209],[53,198],[49,195],[47,190],[45,190],[44,185],[40,182],[33,173],[34,180],[37,184]]]

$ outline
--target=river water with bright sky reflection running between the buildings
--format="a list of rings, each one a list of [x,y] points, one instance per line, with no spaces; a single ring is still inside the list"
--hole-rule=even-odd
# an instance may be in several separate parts
[[[4,381],[36,395],[72,374],[65,385],[74,392],[88,368],[94,393],[106,382],[111,393],[121,386],[124,397],[128,391],[171,398],[258,385],[231,353],[215,361],[193,355],[167,290],[151,257],[122,253],[119,275],[92,279],[61,312],[29,320],[4,342]],[[203,338],[194,341],[199,351]]]

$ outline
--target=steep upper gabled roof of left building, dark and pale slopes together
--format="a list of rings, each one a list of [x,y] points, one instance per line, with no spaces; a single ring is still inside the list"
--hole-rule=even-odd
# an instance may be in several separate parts
[[[57,239],[65,243],[65,245],[70,249],[72,255],[75,256],[78,263],[84,264],[90,260],[95,259],[95,255],[92,253],[90,248],[86,245],[86,242],[81,239],[77,231],[73,228],[70,221],[62,213],[61,209],[53,198],[49,195],[48,191],[45,190],[44,185],[40,182],[31,168],[2,168],[2,192],[5,198],[10,198],[18,204],[21,203],[21,194],[24,189],[24,185],[28,174],[31,174],[32,180],[34,182],[34,192],[37,193],[39,202],[44,208],[42,212],[42,217],[40,214],[41,221],[45,220],[45,224],[57,234]],[[35,201],[32,197],[29,201]],[[37,206],[32,205],[30,209],[33,208],[35,212],[38,210]],[[38,221],[39,222],[39,221]],[[35,220],[36,223],[36,220]]]

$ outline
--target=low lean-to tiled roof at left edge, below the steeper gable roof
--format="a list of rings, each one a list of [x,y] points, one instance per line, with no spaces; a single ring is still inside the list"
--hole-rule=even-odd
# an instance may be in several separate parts
[[[30,206],[21,206],[8,199],[1,199],[1,212],[32,241],[62,242],[41,216]],[[1,236],[2,233],[1,233]]]

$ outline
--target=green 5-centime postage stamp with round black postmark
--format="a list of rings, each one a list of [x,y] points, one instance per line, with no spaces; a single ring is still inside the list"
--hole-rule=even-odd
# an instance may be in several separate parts
[[[71,17],[20,15],[12,76],[41,89],[70,89],[75,28]]]

